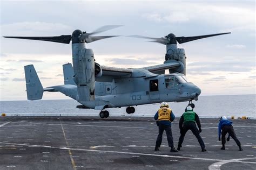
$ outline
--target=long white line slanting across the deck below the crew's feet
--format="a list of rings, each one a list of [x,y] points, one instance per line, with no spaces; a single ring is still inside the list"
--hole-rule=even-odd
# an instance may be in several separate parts
[[[147,156],[165,157],[165,158],[194,159],[194,160],[206,160],[206,161],[230,161],[230,160],[224,160],[224,159],[183,157],[183,156],[176,156],[176,155],[161,155],[161,154],[138,153],[138,152],[89,150],[89,149],[82,149],[82,148],[55,147],[55,146],[29,145],[29,144],[4,143],[4,142],[0,142],[0,144],[22,145],[22,146],[33,146],[33,147],[46,147],[46,148],[58,148],[58,149],[60,149],[60,150],[72,150],[72,151],[87,151],[87,152],[105,152],[105,153],[132,154],[132,155],[147,155]],[[123,149],[123,150],[126,150],[126,149]],[[248,158],[248,159],[249,159],[249,158]],[[250,159],[254,159],[254,158],[250,158]],[[256,162],[240,161],[240,160],[238,160],[238,159],[232,159],[232,161],[235,161],[235,162],[242,162],[242,163],[246,163],[246,164],[256,164]]]

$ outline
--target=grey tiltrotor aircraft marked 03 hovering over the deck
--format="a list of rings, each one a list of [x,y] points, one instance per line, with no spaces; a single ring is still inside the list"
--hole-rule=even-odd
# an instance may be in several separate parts
[[[72,35],[58,37],[5,37],[30,40],[52,41],[69,44],[72,40],[72,62],[63,65],[64,85],[43,88],[33,65],[25,66],[26,93],[28,100],[42,99],[44,91],[59,91],[81,103],[77,108],[101,110],[101,118],[109,117],[106,108],[127,107],[127,114],[135,112],[134,105],[166,102],[185,102],[194,108],[192,100],[198,100],[200,88],[188,82],[186,75],[186,55],[183,48],[177,48],[177,42],[182,44],[201,38],[219,36],[210,34],[194,37],[176,37],[169,34],[164,38],[132,36],[153,39],[166,45],[165,62],[161,65],[144,68],[113,68],[100,66],[95,62],[92,49],[85,43],[117,36],[92,36],[107,31],[118,25],[100,27],[92,33],[73,31]],[[169,69],[170,74],[165,74]]]

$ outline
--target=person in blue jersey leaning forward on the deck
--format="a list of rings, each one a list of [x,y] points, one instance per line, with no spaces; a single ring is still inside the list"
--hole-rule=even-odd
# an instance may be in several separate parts
[[[237,143],[237,146],[239,147],[239,151],[242,151],[241,143],[238,140],[237,136],[235,135],[233,126],[231,121],[228,121],[226,116],[222,116],[219,120],[219,141],[220,141],[220,133],[221,133],[221,144],[222,147],[221,150],[225,150],[225,144],[226,144],[226,134],[228,133],[227,141],[230,140],[230,136],[234,139],[235,143]]]

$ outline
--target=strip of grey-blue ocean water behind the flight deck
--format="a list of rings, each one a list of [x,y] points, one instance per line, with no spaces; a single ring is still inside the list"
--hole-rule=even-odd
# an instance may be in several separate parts
[[[247,116],[256,117],[256,95],[199,96],[194,111],[199,116]],[[188,102],[170,102],[176,116],[181,116]],[[84,114],[98,116],[99,110],[77,109],[75,100],[0,101],[0,113],[11,114]],[[153,116],[159,103],[134,107],[136,112],[127,115],[125,107],[109,108],[110,116]]]

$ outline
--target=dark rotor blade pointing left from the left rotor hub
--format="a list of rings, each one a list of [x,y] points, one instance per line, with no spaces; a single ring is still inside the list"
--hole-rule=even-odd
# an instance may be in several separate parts
[[[51,41],[51,42],[59,42],[64,44],[69,44],[71,41],[71,35],[62,35],[57,37],[9,37],[3,36],[5,38],[18,38],[18,39],[29,39],[29,40],[40,40],[40,41]]]

